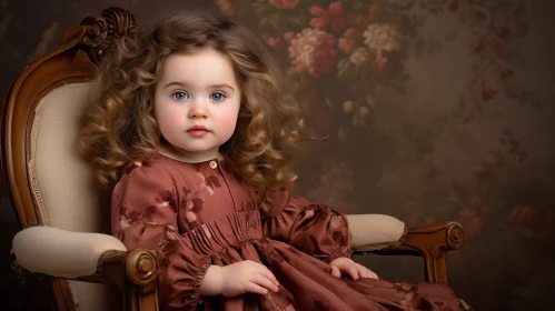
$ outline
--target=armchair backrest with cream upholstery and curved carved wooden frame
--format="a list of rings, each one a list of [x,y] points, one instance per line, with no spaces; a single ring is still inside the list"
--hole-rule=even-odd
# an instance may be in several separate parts
[[[51,225],[109,233],[109,195],[93,185],[76,138],[95,64],[115,39],[137,30],[126,10],[111,8],[68,29],[60,47],[26,67],[2,106],[2,174],[21,228]],[[102,284],[50,279],[58,310],[121,310]]]

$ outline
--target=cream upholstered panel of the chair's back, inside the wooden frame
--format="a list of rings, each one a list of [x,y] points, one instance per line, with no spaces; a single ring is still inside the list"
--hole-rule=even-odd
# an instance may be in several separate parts
[[[109,195],[95,189],[92,170],[77,151],[91,86],[66,84],[41,99],[32,124],[29,172],[46,225],[109,234]],[[122,310],[116,287],[77,281],[69,281],[69,287],[77,310]]]

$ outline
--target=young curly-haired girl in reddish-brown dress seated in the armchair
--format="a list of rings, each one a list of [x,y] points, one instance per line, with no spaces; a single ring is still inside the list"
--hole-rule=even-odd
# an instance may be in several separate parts
[[[80,151],[111,228],[159,260],[163,310],[469,310],[350,260],[343,213],[290,197],[303,119],[246,28],[177,13],[105,56]]]

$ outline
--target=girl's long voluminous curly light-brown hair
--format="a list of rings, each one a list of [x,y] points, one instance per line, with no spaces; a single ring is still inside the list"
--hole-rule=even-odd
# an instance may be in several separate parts
[[[296,179],[289,150],[303,137],[301,111],[266,46],[247,28],[207,13],[174,13],[118,40],[98,68],[78,148],[111,191],[123,169],[162,140],[153,92],[163,60],[210,48],[228,57],[241,91],[237,128],[220,147],[229,169],[258,190]]]

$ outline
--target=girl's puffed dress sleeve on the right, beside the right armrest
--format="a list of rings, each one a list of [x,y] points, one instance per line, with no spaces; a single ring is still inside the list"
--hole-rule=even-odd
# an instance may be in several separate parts
[[[350,231],[341,212],[289,197],[287,189],[268,191],[261,202],[266,237],[284,241],[325,262],[350,257]]]

